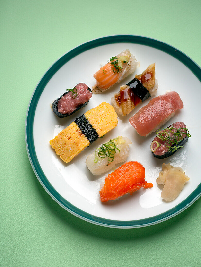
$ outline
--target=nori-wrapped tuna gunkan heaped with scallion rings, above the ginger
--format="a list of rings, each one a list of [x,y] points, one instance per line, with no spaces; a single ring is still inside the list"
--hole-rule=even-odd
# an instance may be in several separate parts
[[[159,129],[151,143],[155,158],[164,159],[183,147],[191,135],[183,122],[175,122],[166,129]]]

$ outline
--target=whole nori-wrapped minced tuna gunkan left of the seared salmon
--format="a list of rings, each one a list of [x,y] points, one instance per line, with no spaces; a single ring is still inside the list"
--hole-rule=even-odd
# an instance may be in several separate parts
[[[79,83],[67,91],[52,103],[54,113],[60,118],[83,108],[92,97],[91,89],[85,83]]]

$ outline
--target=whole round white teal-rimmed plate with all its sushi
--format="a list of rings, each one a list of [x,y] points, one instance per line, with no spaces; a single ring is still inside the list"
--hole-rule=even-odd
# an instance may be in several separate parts
[[[201,194],[200,81],[193,60],[148,37],[107,36],[70,50],[27,110],[38,180],[64,209],[101,226],[179,214]]]

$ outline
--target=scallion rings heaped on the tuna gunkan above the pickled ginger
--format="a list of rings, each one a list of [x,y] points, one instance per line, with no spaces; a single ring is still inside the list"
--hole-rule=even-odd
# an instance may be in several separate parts
[[[173,133],[173,137],[170,136],[170,133]],[[187,128],[181,127],[177,129],[177,128],[174,128],[173,125],[170,128],[159,129],[156,131],[156,136],[159,139],[169,144],[168,146],[167,143],[165,143],[165,146],[168,147],[168,152],[172,151],[172,153],[175,152],[178,148],[183,147],[183,146],[172,146],[174,143],[178,144],[179,142],[181,142],[181,140],[183,140],[184,137],[182,134],[186,134],[186,136],[191,137]],[[157,141],[153,141],[153,142],[156,143]],[[151,144],[152,152],[156,151],[156,149],[161,145],[159,143],[160,145],[154,148],[153,150],[153,142]]]

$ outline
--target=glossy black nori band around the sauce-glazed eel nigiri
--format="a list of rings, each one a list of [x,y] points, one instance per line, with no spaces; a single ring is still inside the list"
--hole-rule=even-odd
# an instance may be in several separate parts
[[[151,96],[149,90],[146,89],[146,87],[144,87],[142,83],[136,78],[130,81],[127,85],[132,89],[133,93],[136,96],[140,97],[142,102],[144,102]]]

